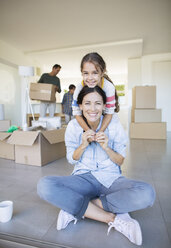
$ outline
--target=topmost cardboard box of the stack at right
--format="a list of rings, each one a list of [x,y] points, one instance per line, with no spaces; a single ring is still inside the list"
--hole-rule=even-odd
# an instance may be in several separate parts
[[[135,86],[132,89],[132,108],[156,108],[156,86]]]

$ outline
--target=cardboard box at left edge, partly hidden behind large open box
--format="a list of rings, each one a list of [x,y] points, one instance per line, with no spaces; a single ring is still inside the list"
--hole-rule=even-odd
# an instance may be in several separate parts
[[[8,144],[11,133],[0,132],[0,158],[15,159],[14,145]]]

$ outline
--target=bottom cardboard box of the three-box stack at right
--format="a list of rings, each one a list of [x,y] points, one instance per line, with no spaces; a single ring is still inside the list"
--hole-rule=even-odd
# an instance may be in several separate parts
[[[166,139],[166,122],[131,123],[131,139]]]

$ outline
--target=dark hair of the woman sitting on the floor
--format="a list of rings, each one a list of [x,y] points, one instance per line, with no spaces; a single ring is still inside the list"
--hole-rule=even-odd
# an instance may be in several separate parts
[[[103,99],[103,104],[106,104],[106,94],[105,92],[102,90],[102,88],[100,88],[99,86],[95,86],[94,88],[89,88],[88,86],[84,86],[82,88],[82,90],[80,91],[80,93],[78,94],[77,97],[77,104],[82,104],[83,102],[83,98],[89,94],[89,93],[93,93],[93,92],[97,92]]]

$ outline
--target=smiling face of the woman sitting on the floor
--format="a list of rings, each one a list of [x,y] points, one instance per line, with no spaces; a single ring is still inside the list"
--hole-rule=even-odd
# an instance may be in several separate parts
[[[102,96],[97,92],[92,92],[84,96],[80,109],[88,123],[97,124],[100,121],[102,111],[105,108]]]

